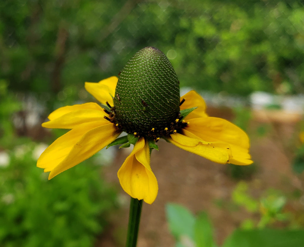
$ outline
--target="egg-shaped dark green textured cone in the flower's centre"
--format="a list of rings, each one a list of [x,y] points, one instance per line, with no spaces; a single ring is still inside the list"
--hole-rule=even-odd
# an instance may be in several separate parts
[[[179,81],[171,63],[157,48],[145,47],[119,75],[114,122],[127,133],[157,140],[174,133],[179,104]]]

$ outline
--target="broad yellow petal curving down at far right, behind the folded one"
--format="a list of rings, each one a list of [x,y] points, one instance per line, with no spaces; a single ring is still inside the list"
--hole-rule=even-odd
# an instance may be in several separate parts
[[[218,117],[201,117],[189,119],[185,130],[207,142],[220,141],[231,148],[232,157],[228,163],[250,165],[253,161],[249,155],[249,138],[244,130],[233,123]]]

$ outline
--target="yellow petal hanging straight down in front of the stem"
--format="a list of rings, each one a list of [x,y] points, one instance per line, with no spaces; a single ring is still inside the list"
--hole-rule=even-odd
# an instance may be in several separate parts
[[[131,197],[152,204],[157,196],[158,185],[150,167],[149,144],[142,137],[117,172],[123,190]]]

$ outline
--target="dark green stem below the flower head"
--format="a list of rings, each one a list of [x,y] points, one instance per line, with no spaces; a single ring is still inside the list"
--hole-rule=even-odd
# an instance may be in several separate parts
[[[136,247],[143,200],[131,197],[126,247]]]

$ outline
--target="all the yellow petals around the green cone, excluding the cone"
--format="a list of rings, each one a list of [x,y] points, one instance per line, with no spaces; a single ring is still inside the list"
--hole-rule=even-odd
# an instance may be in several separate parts
[[[110,107],[113,106],[112,97],[117,81],[118,78],[113,76],[98,83],[86,82],[85,89],[102,105]],[[151,137],[154,137],[154,141],[162,137],[179,148],[213,162],[236,165],[252,163],[248,153],[249,138],[243,130],[224,119],[209,117],[204,100],[195,91],[188,92],[180,101],[180,110],[197,108],[184,119],[174,120],[174,129],[166,127],[164,133],[167,135],[154,136],[153,128],[150,136],[137,137],[133,151],[118,171],[123,190],[133,198],[151,204],[157,196],[157,179],[150,167]],[[51,179],[111,144],[123,132],[119,123],[112,120],[112,110],[105,110],[97,103],[85,103],[64,106],[52,112],[48,116],[50,121],[43,123],[43,127],[71,130],[43,152],[37,166],[44,168],[44,172],[50,172]]]

